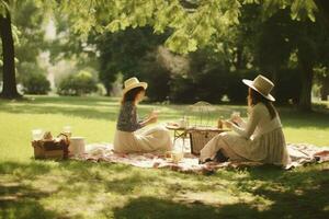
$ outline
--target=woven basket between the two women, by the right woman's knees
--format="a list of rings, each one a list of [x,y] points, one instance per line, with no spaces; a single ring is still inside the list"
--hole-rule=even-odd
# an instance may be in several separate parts
[[[190,132],[191,153],[198,155],[203,147],[215,136],[223,132],[220,129],[193,129]]]

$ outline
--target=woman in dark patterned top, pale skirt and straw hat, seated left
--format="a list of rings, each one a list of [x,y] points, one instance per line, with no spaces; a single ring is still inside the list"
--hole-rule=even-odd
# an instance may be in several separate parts
[[[143,100],[146,89],[147,83],[139,82],[137,78],[131,78],[124,82],[114,137],[116,152],[168,151],[172,148],[170,134],[164,127],[141,129],[158,119],[158,113],[152,112],[145,120],[138,120],[137,104]]]

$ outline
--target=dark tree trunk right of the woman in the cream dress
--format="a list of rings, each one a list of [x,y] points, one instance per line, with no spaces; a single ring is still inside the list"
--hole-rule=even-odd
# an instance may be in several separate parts
[[[311,85],[314,71],[313,66],[307,60],[299,60],[300,78],[302,78],[302,92],[298,103],[298,110],[310,112],[311,111]]]

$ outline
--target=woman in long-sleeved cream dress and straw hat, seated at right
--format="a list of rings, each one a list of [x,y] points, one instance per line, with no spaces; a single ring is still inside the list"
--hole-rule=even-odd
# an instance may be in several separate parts
[[[286,165],[290,162],[282,125],[270,94],[274,84],[263,76],[253,81],[243,79],[249,87],[249,119],[238,115],[225,122],[234,131],[222,132],[201,150],[200,161],[222,158],[231,161],[257,161]],[[224,158],[224,159],[223,159]]]

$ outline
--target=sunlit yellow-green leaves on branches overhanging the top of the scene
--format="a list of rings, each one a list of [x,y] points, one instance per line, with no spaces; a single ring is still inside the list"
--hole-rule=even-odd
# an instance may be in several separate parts
[[[262,4],[263,18],[291,7],[292,19],[315,21],[317,11],[314,0],[70,0],[60,1],[59,5],[73,19],[75,31],[79,33],[150,25],[155,33],[170,31],[166,46],[188,54],[239,24],[241,4],[252,3]]]

